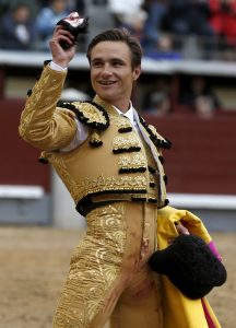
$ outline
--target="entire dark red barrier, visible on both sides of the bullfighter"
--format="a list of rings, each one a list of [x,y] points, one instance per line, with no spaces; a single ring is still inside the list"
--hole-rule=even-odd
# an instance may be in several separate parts
[[[50,165],[25,143],[17,127],[24,99],[0,101],[1,185],[39,185],[50,190]],[[164,151],[169,192],[236,195],[236,115],[146,117],[173,141]]]

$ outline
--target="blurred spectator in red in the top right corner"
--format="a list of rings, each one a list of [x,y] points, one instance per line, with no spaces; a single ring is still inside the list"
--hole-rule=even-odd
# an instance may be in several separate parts
[[[236,0],[209,0],[210,23],[220,36],[221,50],[236,46]]]

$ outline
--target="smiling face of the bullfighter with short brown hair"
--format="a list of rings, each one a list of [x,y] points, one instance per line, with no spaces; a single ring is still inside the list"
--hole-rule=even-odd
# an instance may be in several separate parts
[[[104,101],[126,112],[133,81],[141,69],[131,67],[131,52],[126,43],[101,42],[91,52],[91,82]]]

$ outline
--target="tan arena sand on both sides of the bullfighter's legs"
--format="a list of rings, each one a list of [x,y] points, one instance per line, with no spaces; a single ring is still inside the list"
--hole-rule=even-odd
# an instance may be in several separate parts
[[[222,328],[236,328],[236,234],[212,234],[228,271],[208,296]],[[79,231],[0,226],[0,328],[50,328]],[[186,328],[186,327],[185,327]]]

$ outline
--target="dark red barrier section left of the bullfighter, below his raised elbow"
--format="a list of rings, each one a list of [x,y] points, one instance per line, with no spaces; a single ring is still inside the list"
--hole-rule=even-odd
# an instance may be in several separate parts
[[[19,136],[24,101],[0,101],[0,184],[39,185],[50,190],[50,166],[38,163],[39,151]]]

